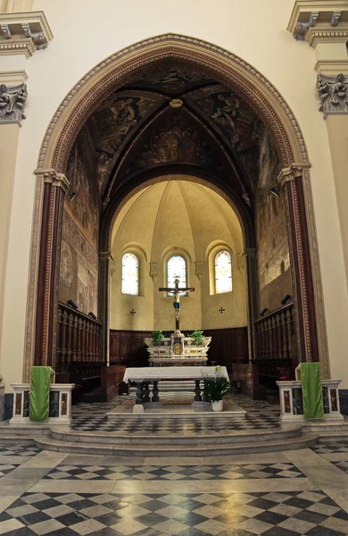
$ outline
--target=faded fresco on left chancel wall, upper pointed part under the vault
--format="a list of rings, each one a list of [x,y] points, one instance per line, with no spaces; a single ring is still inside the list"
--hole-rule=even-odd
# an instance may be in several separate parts
[[[95,170],[94,133],[85,125],[72,148],[67,171],[70,192],[76,192],[77,196],[71,202],[66,197],[64,209],[90,245],[97,250],[100,196]]]

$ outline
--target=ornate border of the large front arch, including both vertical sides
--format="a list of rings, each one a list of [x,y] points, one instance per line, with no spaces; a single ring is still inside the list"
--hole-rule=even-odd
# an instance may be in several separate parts
[[[44,254],[41,244],[41,231],[44,230],[44,224],[41,229],[41,221],[45,222],[45,217],[42,214],[44,184],[49,182],[52,186],[58,184],[66,187],[67,181],[63,173],[66,170],[70,149],[81,126],[105,96],[123,85],[125,80],[135,71],[170,59],[191,63],[205,71],[210,71],[217,80],[221,80],[236,93],[243,94],[253,108],[261,114],[272,131],[284,168],[280,179],[293,181],[294,177],[298,178],[301,175],[311,249],[311,276],[314,286],[320,361],[323,375],[329,377],[327,330],[309,172],[311,164],[308,161],[307,149],[299,124],[278,90],[249,63],[219,46],[200,39],[169,33],[145,39],[123,48],[98,63],[65,96],[46,130],[36,171],[37,186],[29,269],[24,381],[29,378],[29,366],[34,354],[39,265],[40,262],[45,261],[45,259],[43,261]],[[293,205],[295,201],[296,199],[293,199]],[[53,210],[52,206],[51,209]],[[299,210],[297,210],[297,215],[300,225]],[[49,243],[49,240],[50,237],[54,236],[54,230],[49,230],[47,234],[46,255],[52,255],[52,242]],[[58,239],[59,235],[60,230],[56,230]],[[52,259],[48,259],[46,256],[46,262],[49,264],[51,272],[54,272]],[[54,273],[57,275],[56,269]],[[305,303],[304,307],[307,305]],[[43,337],[46,338],[45,330]]]

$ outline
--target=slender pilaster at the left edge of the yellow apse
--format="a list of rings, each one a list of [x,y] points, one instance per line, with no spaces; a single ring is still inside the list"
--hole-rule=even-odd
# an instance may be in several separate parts
[[[103,323],[100,355],[102,361],[110,364],[110,269],[112,254],[110,251],[99,252],[98,279],[98,320]]]

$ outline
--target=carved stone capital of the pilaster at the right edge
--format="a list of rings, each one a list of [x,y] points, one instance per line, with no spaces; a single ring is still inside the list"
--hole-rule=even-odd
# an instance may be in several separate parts
[[[318,75],[319,112],[324,113],[324,117],[335,113],[348,113],[347,82],[348,77],[342,72],[336,77]]]

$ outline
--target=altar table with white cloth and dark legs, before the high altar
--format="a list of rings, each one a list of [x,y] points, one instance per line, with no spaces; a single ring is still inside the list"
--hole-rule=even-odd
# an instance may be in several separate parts
[[[217,372],[215,366],[171,366],[168,367],[143,367],[127,368],[123,381],[134,381],[137,384],[136,405],[133,408],[134,413],[142,413],[144,404],[159,405],[158,383],[162,380],[194,380],[195,381],[195,400],[193,406],[200,406],[202,402],[208,402],[205,396],[201,394],[200,382],[203,380],[213,380],[217,375],[228,380],[228,371],[226,366],[221,366]],[[153,393],[150,396],[150,382],[153,383]]]

